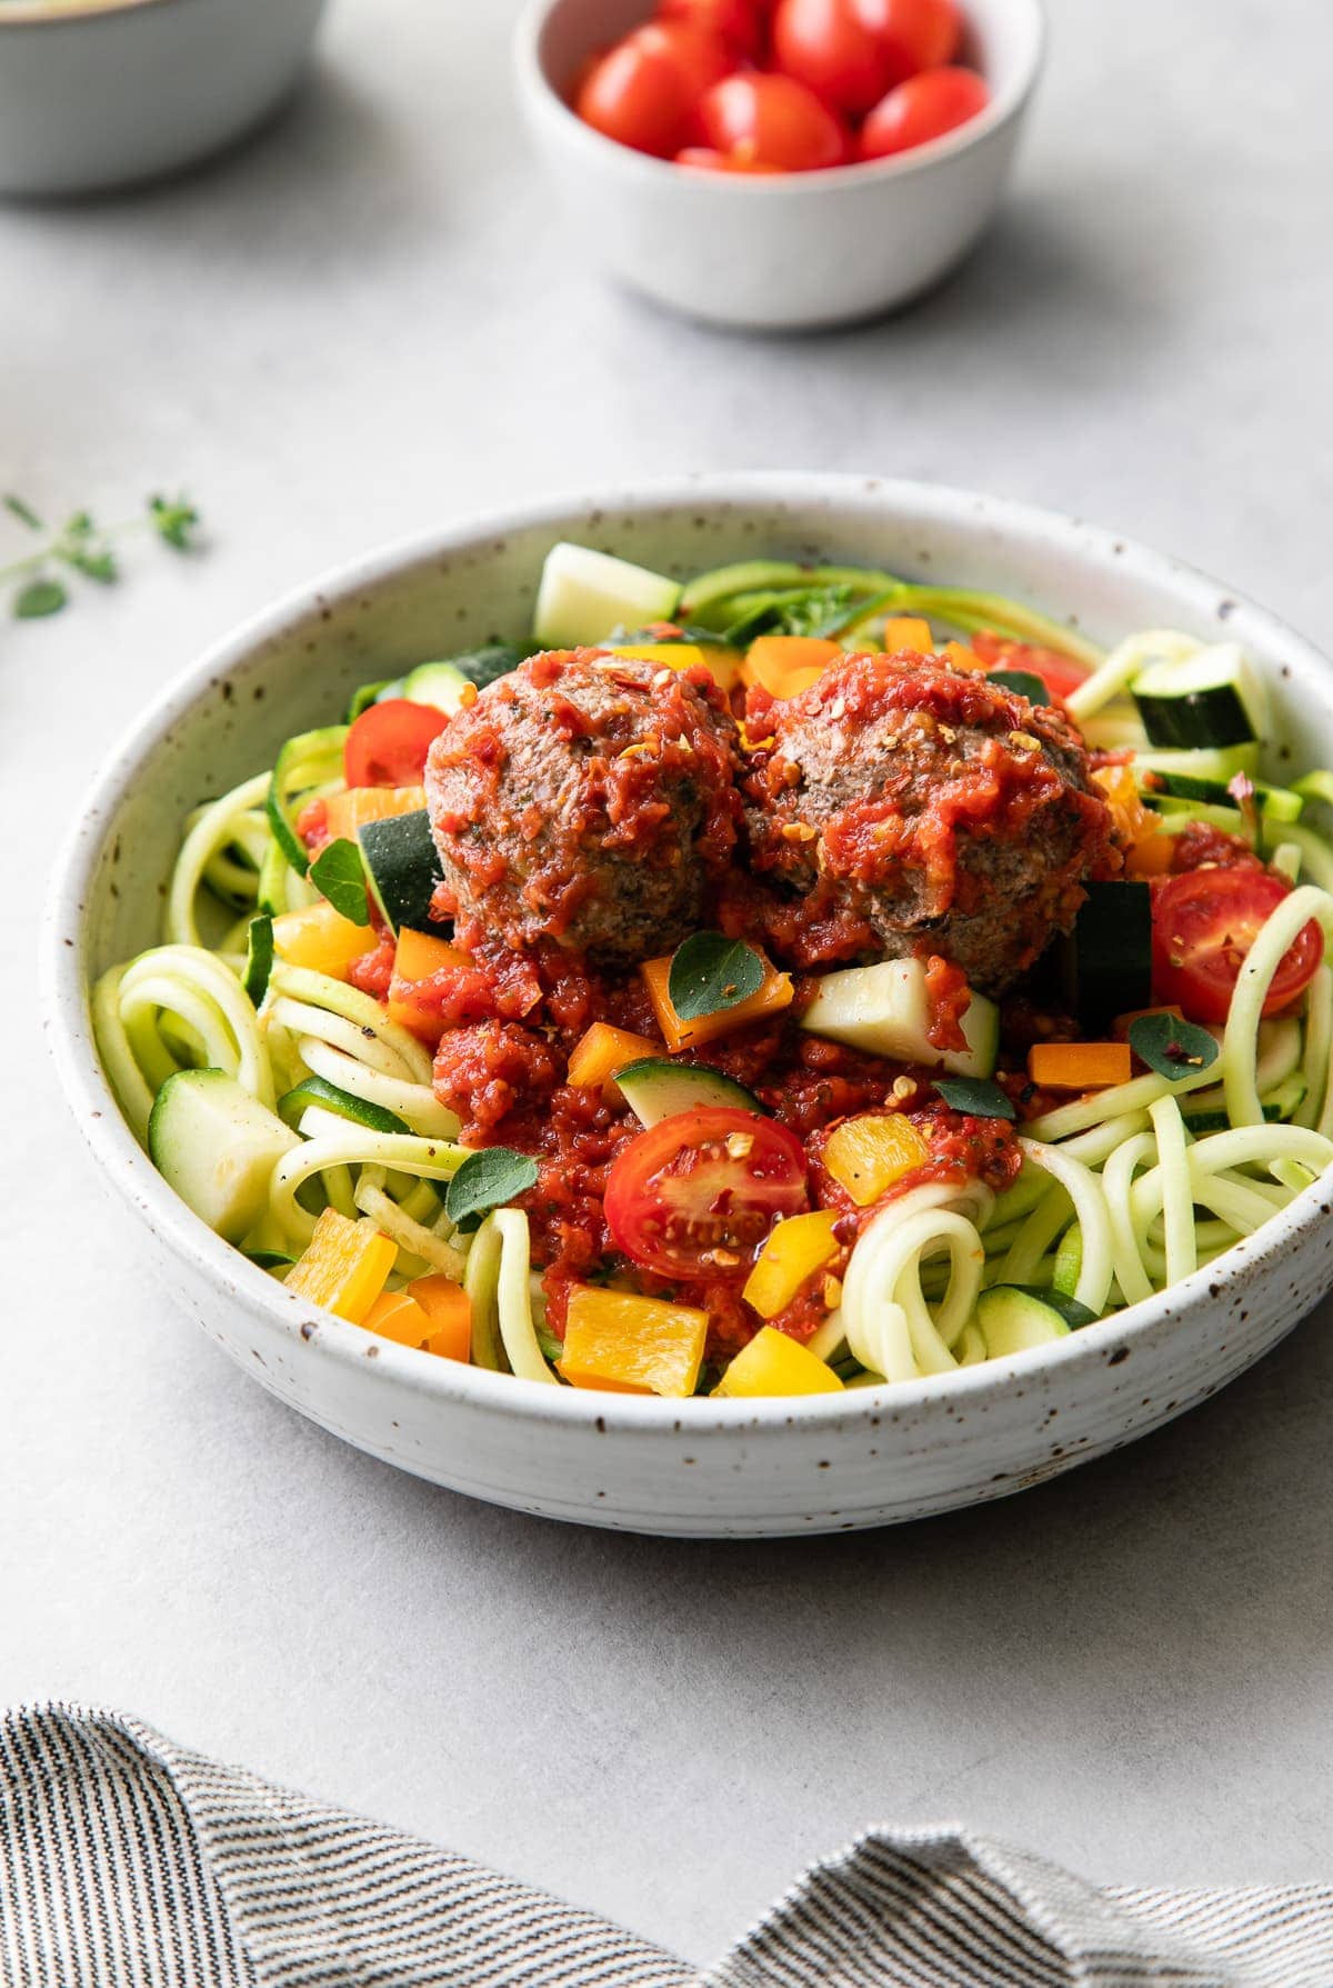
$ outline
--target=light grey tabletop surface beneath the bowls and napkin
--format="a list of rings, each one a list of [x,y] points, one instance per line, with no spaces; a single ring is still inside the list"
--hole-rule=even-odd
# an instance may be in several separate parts
[[[715,1952],[876,1819],[1107,1883],[1333,1865],[1323,1314],[1176,1427],[910,1531],[578,1533],[270,1402],[149,1282],[38,1030],[52,837],[203,644],[364,547],[685,467],[922,475],[1099,517],[1333,638],[1333,32],[1061,0],[1019,187],[910,316],[717,336],[606,288],[509,97],[513,0],[336,0],[308,91],[183,185],[0,211],[0,483],[187,483],[211,549],[0,620],[0,1698],[135,1710]],[[1275,18],[1275,16],[1271,16]],[[0,547],[20,531],[0,527]]]

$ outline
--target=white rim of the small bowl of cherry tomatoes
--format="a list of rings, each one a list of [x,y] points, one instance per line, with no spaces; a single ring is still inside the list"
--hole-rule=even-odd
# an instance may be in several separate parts
[[[930,139],[926,145],[914,145],[910,151],[888,159],[852,159],[848,165],[830,165],[818,173],[701,173],[679,167],[673,159],[658,159],[654,153],[620,145],[616,139],[604,137],[602,131],[594,131],[592,125],[586,125],[574,113],[546,76],[540,60],[542,30],[560,4],[562,0],[526,0],[515,26],[515,66],[518,87],[528,105],[552,117],[564,131],[566,141],[580,145],[590,161],[600,157],[608,167],[614,161],[614,169],[638,175],[646,185],[654,181],[666,185],[666,175],[669,173],[675,181],[683,177],[685,185],[707,187],[723,199],[729,195],[737,195],[739,199],[779,199],[795,193],[818,197],[820,193],[846,191],[848,187],[884,185],[894,179],[926,173],[934,165],[971,151],[1021,115],[1041,78],[1051,38],[1045,0],[1005,0],[1007,6],[1027,14],[1031,34],[1023,68],[983,111],[954,131]]]

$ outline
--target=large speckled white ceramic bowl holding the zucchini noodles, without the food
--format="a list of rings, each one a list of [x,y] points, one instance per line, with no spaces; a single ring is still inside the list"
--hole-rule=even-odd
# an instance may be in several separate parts
[[[381,553],[290,596],[195,664],[111,757],[54,877],[46,1014],[70,1103],[145,1254],[193,1318],[292,1408],[471,1497],[586,1525],[783,1535],[1003,1497],[1170,1421],[1267,1352],[1333,1284],[1333,1189],[1309,1187],[1166,1298],[1057,1348],[809,1402],[658,1402],[433,1360],[314,1312],[219,1242],[123,1125],[87,982],[157,938],[181,821],[272,763],[354,684],[467,642],[526,638],[542,555],[578,539],[687,575],[759,553],[866,561],[1017,592],[1103,640],[1226,630],[1275,686],[1271,771],[1333,759],[1333,678],[1261,608],[1089,525],[962,491],[818,475],[699,477],[515,511]]]

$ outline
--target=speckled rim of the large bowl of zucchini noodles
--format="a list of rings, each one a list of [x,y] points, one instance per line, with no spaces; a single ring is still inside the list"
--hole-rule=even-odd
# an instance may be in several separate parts
[[[524,505],[471,517],[465,523],[399,539],[326,571],[316,580],[288,590],[268,608],[250,614],[149,702],[147,710],[115,742],[83,797],[83,805],[75,809],[46,897],[40,1004],[62,1089],[107,1181],[177,1258],[217,1286],[219,1298],[234,1296],[250,1314],[264,1316],[294,1344],[304,1342],[306,1358],[312,1354],[328,1358],[362,1376],[377,1372],[385,1382],[395,1380],[425,1398],[453,1400],[479,1413],[534,1417],[546,1423],[582,1425],[600,1433],[616,1429],[677,1435],[687,1429],[703,1439],[711,1431],[765,1433],[787,1429],[793,1423],[834,1431],[854,1423],[876,1425],[890,1413],[906,1417],[912,1409],[926,1409],[932,1402],[975,1404],[981,1396],[1003,1398],[1009,1388],[1037,1374],[1103,1364],[1111,1354],[1120,1354],[1120,1348],[1128,1350],[1150,1330],[1176,1320],[1182,1310],[1218,1300],[1222,1294],[1218,1286],[1236,1286],[1244,1274],[1263,1268],[1269,1258],[1281,1258],[1319,1215],[1333,1213],[1329,1187],[1319,1179],[1303,1189],[1287,1209],[1269,1217],[1261,1229],[1236,1242],[1228,1250],[1224,1272],[1218,1272],[1218,1262],[1204,1264],[1170,1290],[1083,1326],[1053,1346],[960,1368],[952,1374],[844,1394],[755,1400],[709,1396],[683,1402],[544,1386],[513,1374],[493,1374],[487,1368],[435,1360],[389,1340],[377,1342],[375,1366],[368,1368],[362,1326],[348,1324],[294,1294],[286,1294],[264,1270],[222,1242],[145,1163],[145,1153],[121,1117],[101,1070],[91,1034],[85,905],[105,841],[103,823],[113,817],[133,777],[157,755],[173,726],[187,720],[221,678],[330,604],[375,590],[407,575],[413,567],[451,559],[520,531],[542,527],[560,531],[572,519],[592,515],[600,517],[602,527],[614,527],[618,517],[652,509],[697,511],[709,505],[727,509],[759,503],[781,507],[813,499],[824,499],[830,505],[860,501],[868,521],[878,505],[902,511],[910,507],[924,525],[989,523],[1001,531],[1009,529],[1015,537],[1047,541],[1069,557],[1095,559],[1099,565],[1136,575],[1146,584],[1182,594],[1182,610],[1194,612],[1200,624],[1208,624],[1220,614],[1244,618],[1263,634],[1273,650],[1285,658],[1297,658],[1301,674],[1309,672],[1313,682],[1327,676],[1329,666],[1319,650],[1267,608],[1236,588],[1222,586],[1196,567],[1154,553],[1122,533],[1089,525],[1059,511],[1003,497],[983,497],[950,485],[826,471],[699,471],[685,477],[532,499]],[[368,1384],[371,1382],[368,1380]]]

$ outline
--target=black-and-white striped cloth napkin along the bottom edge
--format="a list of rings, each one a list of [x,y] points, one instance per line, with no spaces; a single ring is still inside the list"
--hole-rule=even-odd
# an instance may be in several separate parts
[[[1329,1988],[1333,1889],[1095,1891],[872,1831],[703,1974],[113,1712],[0,1722],[4,1988]]]

